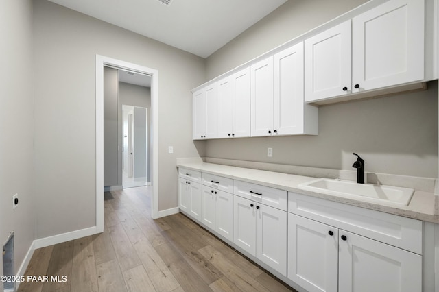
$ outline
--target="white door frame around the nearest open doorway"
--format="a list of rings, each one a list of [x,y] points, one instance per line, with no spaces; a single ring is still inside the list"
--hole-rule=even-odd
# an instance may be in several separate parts
[[[152,218],[158,214],[158,71],[96,55],[96,229],[104,231],[104,65],[151,75]]]

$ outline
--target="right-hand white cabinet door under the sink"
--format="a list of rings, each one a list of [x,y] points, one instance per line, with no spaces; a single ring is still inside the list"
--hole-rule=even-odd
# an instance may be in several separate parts
[[[339,247],[340,292],[422,291],[422,256],[344,230]]]

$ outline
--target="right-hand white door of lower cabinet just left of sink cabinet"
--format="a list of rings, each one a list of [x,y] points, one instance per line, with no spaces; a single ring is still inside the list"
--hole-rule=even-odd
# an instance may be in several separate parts
[[[256,257],[287,276],[287,212],[256,206]]]

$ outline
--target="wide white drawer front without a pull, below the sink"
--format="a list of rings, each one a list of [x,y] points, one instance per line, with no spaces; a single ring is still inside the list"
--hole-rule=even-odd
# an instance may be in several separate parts
[[[288,211],[422,254],[423,223],[376,210],[288,193]]]

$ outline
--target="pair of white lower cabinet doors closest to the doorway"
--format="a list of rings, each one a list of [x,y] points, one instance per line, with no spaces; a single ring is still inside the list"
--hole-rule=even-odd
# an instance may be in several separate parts
[[[179,208],[197,221],[201,221],[201,184],[178,179]]]

